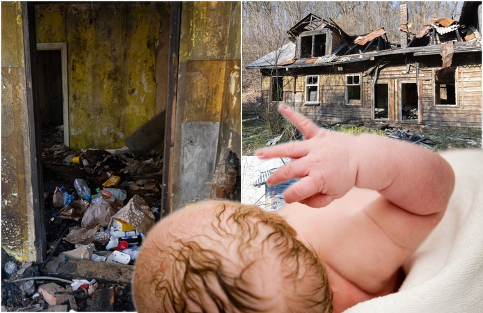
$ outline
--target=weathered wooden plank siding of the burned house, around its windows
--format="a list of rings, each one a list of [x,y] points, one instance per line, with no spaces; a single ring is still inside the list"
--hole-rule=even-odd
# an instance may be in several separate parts
[[[411,62],[409,72],[406,65],[388,65],[379,69],[376,83],[387,83],[388,109],[391,121],[399,121],[402,124],[441,125],[441,126],[464,126],[482,127],[482,67],[475,64],[472,58],[454,59],[453,66],[456,68],[456,105],[435,104],[435,73],[441,69],[440,65],[432,64],[431,58],[425,59],[425,63],[418,69],[418,78],[414,61]],[[465,65],[468,60],[473,60],[471,65]],[[436,61],[435,61],[436,62]],[[441,62],[441,61],[440,61]],[[430,65],[429,65],[430,64]],[[367,68],[367,67],[366,67]],[[306,114],[312,120],[326,122],[341,122],[347,120],[372,120],[372,75],[361,75],[362,97],[361,105],[349,106],[345,104],[345,75],[360,74],[363,72],[347,71],[338,74],[332,68],[324,69],[319,73],[319,105],[306,105],[304,102],[306,77],[284,78],[284,101]],[[309,74],[309,73],[307,73]],[[316,74],[315,72],[310,73]],[[416,83],[418,79],[420,122],[401,121],[400,112],[400,87],[401,83]],[[286,83],[289,82],[289,83]],[[262,94],[265,99],[269,95],[270,78],[262,79]],[[267,87],[264,89],[264,87]]]

